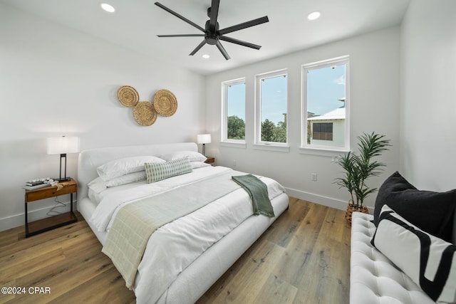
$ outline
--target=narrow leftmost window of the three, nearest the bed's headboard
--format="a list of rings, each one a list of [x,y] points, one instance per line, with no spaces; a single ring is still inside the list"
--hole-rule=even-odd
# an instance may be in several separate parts
[[[245,78],[222,83],[222,141],[245,142]]]

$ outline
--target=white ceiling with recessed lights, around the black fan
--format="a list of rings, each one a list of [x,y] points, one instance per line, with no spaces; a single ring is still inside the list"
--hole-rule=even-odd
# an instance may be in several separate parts
[[[158,38],[157,34],[201,33],[188,23],[160,9],[156,0],[0,0],[18,9],[131,48],[153,58],[172,61],[203,75],[235,68],[286,53],[311,48],[361,33],[400,24],[410,0],[221,0],[219,26],[269,17],[269,23],[227,34],[259,44],[252,48],[222,41],[232,58],[226,61],[216,46],[205,45],[188,54],[202,37]],[[113,5],[115,13],[100,9]],[[211,0],[159,0],[204,28]],[[320,19],[307,15],[321,11]],[[209,54],[209,59],[202,58]]]

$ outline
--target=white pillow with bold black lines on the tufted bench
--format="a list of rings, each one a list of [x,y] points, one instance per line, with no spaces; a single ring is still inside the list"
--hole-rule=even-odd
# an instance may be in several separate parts
[[[432,300],[455,303],[456,246],[410,224],[388,205],[383,205],[379,219],[373,246]]]

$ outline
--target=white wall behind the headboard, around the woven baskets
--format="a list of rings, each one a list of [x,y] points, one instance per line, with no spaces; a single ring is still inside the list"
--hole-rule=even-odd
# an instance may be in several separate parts
[[[79,136],[86,150],[196,141],[204,132],[201,75],[1,3],[0,37],[0,231],[24,225],[26,180],[58,177],[59,157],[46,154],[46,137]],[[177,112],[142,127],[117,100],[122,85],[132,85],[140,100],[149,101],[157,90],[171,90]],[[68,154],[71,177],[77,177],[77,157]],[[38,201],[29,210],[53,204]],[[31,219],[47,210],[32,212]]]

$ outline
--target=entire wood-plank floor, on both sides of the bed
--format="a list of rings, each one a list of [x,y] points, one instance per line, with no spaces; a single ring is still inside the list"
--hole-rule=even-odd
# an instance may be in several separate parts
[[[348,303],[344,216],[290,198],[289,210],[197,303]],[[0,232],[0,287],[26,288],[26,294],[0,294],[0,303],[135,303],[86,221],[78,219],[28,239],[24,227]]]

